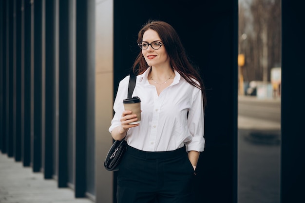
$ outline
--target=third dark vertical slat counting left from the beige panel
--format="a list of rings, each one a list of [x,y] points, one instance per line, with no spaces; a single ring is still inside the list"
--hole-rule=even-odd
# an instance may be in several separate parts
[[[45,136],[42,139],[44,178],[53,176],[54,145],[56,132],[56,2],[45,1]]]

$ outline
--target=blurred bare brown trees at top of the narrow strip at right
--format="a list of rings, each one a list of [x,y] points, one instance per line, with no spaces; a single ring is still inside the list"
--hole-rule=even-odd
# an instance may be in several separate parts
[[[281,64],[281,0],[240,0],[239,52],[245,54],[245,81],[270,81]]]

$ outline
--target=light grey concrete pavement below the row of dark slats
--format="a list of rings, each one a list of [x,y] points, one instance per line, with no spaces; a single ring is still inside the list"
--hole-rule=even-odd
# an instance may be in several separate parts
[[[0,153],[0,203],[94,203],[75,198],[70,188],[58,188],[56,180],[46,180],[41,172]]]

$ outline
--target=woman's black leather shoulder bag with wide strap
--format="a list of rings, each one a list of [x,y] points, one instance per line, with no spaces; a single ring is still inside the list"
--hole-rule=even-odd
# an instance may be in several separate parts
[[[127,98],[131,98],[133,95],[133,89],[135,87],[136,76],[130,74],[129,85],[128,85],[128,94]],[[107,153],[104,167],[107,170],[115,171],[118,170],[119,163],[122,160],[124,153],[127,150],[127,142],[123,138],[121,141],[115,140],[110,150]]]

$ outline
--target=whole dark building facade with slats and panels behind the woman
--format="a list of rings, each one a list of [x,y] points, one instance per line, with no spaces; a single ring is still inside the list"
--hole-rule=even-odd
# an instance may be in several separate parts
[[[305,181],[295,37],[305,33],[298,3],[283,0],[282,15],[281,201],[291,203]],[[207,88],[196,200],[237,203],[237,0],[0,0],[0,150],[76,197],[115,202],[116,172],[103,167],[112,105],[148,19],[172,24]]]

